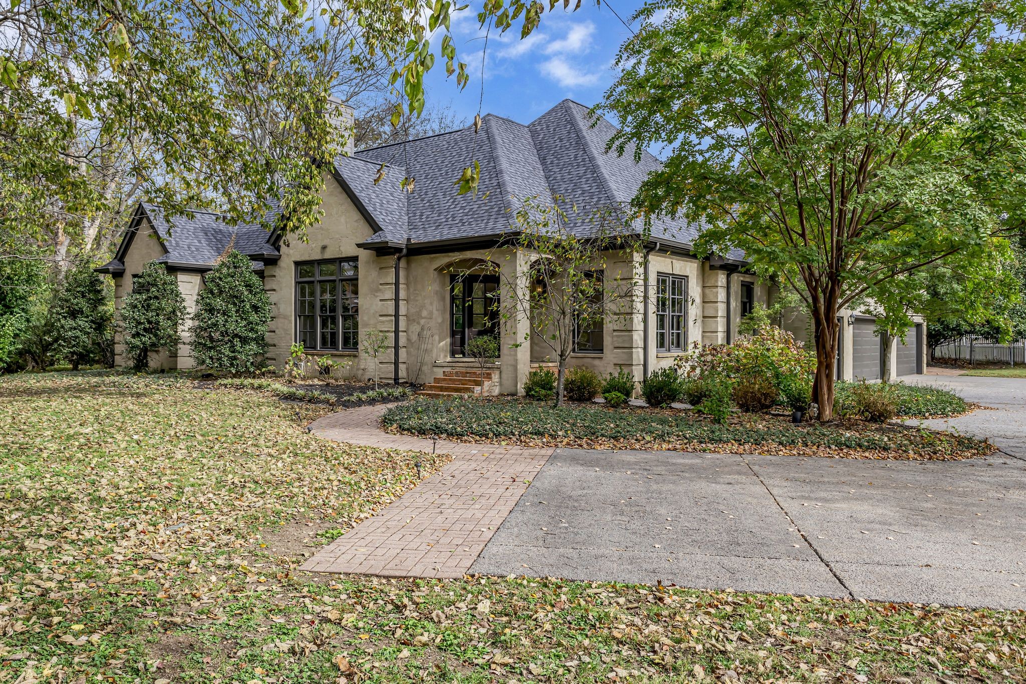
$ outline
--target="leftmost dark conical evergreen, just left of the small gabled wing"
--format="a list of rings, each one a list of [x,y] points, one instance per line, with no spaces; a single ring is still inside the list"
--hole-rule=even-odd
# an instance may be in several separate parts
[[[103,358],[111,331],[111,304],[104,279],[88,264],[71,271],[53,304],[54,349],[78,370]]]

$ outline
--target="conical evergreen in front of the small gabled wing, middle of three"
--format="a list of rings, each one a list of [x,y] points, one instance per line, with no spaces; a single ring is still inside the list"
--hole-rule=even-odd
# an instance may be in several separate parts
[[[148,263],[132,279],[131,292],[125,295],[121,307],[125,354],[131,359],[132,368],[149,368],[150,352],[176,351],[185,319],[186,303],[179,281],[167,273],[163,264]]]

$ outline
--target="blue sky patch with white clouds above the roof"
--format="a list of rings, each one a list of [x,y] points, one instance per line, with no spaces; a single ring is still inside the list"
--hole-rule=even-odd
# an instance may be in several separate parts
[[[477,112],[484,48],[475,4],[452,22],[458,55],[467,63],[470,83],[458,90],[455,77],[445,79],[442,61],[427,79],[429,102],[451,103],[468,122]],[[614,0],[611,5],[603,2],[596,7],[583,2],[576,12],[564,12],[557,5],[542,15],[541,25],[524,40],[519,39],[519,23],[505,36],[497,38],[492,32],[484,63],[482,114],[528,123],[564,97],[589,107],[599,102],[616,78],[617,49],[630,36],[611,9],[629,22],[640,4],[640,0]]]

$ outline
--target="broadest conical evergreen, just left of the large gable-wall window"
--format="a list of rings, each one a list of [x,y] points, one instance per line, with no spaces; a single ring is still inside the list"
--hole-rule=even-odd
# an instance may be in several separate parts
[[[233,373],[256,370],[267,351],[271,299],[249,257],[229,251],[203,282],[191,328],[196,363]]]

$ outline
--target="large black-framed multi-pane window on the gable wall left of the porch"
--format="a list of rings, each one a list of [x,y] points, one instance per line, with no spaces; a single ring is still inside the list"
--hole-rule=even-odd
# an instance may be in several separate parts
[[[295,265],[295,338],[305,349],[357,349],[359,276],[356,257]]]

